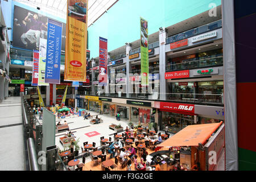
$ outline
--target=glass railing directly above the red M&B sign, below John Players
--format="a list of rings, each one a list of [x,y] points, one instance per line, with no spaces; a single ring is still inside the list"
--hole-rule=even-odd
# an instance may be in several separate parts
[[[224,104],[223,94],[166,93],[168,101]]]

